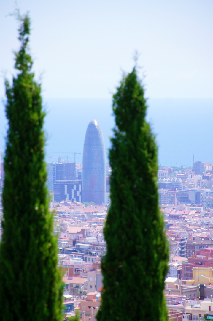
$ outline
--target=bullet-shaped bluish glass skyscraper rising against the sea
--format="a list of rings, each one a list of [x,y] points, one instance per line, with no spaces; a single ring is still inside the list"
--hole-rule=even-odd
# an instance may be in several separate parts
[[[106,203],[106,157],[99,122],[87,126],[83,151],[82,202]]]

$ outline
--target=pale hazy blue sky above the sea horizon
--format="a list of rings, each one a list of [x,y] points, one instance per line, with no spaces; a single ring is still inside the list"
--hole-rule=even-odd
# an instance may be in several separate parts
[[[134,50],[150,98],[212,98],[212,0],[18,0],[45,98],[109,98]],[[13,73],[18,23],[0,0],[0,71]],[[4,81],[0,81],[0,97]]]

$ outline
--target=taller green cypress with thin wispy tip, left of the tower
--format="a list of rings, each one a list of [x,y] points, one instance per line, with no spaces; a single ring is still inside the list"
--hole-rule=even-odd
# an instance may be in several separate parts
[[[41,86],[31,72],[29,16],[20,19],[17,76],[6,86],[8,132],[0,245],[0,319],[59,321],[62,283],[57,269],[57,240],[48,212],[44,162],[45,113]]]

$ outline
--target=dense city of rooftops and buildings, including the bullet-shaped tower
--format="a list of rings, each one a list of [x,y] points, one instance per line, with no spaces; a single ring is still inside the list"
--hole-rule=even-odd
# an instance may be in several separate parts
[[[83,164],[59,157],[46,165],[58,266],[64,270],[64,313],[68,319],[79,309],[83,321],[95,320],[101,304],[111,175],[98,121],[88,125]],[[1,153],[1,191],[3,182]],[[169,320],[203,320],[205,311],[213,310],[212,163],[193,157],[191,167],[160,167],[157,183],[170,251],[164,290]]]

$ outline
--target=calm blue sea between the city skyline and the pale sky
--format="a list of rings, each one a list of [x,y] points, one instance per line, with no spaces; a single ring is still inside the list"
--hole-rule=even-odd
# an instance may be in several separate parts
[[[0,103],[0,150],[4,155],[7,119]],[[213,162],[213,98],[147,100],[146,120],[158,146],[160,166],[189,167],[194,161]],[[43,100],[45,116],[45,159],[48,162],[82,162],[86,128],[91,119],[102,127],[106,161],[115,126],[111,99]]]

